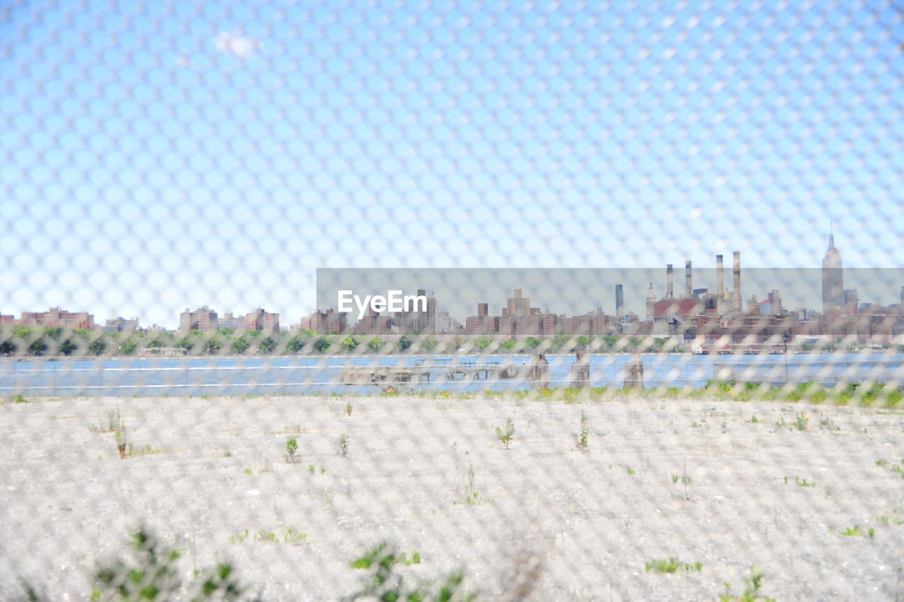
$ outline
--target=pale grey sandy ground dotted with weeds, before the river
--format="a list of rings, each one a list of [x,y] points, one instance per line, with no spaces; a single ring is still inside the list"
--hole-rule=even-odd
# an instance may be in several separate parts
[[[98,432],[111,409],[137,450],[127,459]],[[586,451],[574,440],[582,411]],[[494,428],[508,418],[506,450]],[[293,434],[297,464],[283,459]],[[483,599],[508,599],[519,572],[538,600],[714,599],[725,582],[739,594],[752,565],[760,593],[777,599],[904,597],[904,478],[891,469],[904,457],[899,411],[82,398],[5,402],[0,441],[0,599],[15,599],[22,578],[49,599],[85,599],[92,569],[126,555],[140,523],[183,551],[184,581],[228,559],[271,600],[353,593],[364,575],[350,561],[381,540],[419,552],[400,569],[407,579],[463,566]],[[480,503],[463,503],[472,468]],[[854,526],[862,536],[840,532]],[[278,541],[254,541],[257,531]],[[305,541],[285,541],[290,532]],[[645,570],[669,557],[702,570]]]

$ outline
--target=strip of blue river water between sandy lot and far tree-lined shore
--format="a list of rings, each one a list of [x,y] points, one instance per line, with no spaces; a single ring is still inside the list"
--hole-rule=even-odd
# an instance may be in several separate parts
[[[573,355],[549,355],[550,387],[570,383]],[[645,386],[703,387],[718,372],[720,378],[784,383],[817,381],[904,381],[901,353],[810,353],[789,355],[644,355]],[[621,387],[628,355],[590,356],[590,381],[595,387]],[[528,355],[456,357],[279,357],[173,358],[114,360],[29,360],[0,362],[0,395],[150,396],[150,395],[268,395],[379,392],[387,385],[343,384],[344,370],[412,367],[428,372],[429,381],[399,385],[426,391],[523,390],[530,383],[513,379],[450,381],[450,367],[514,366],[521,371],[532,362]]]

